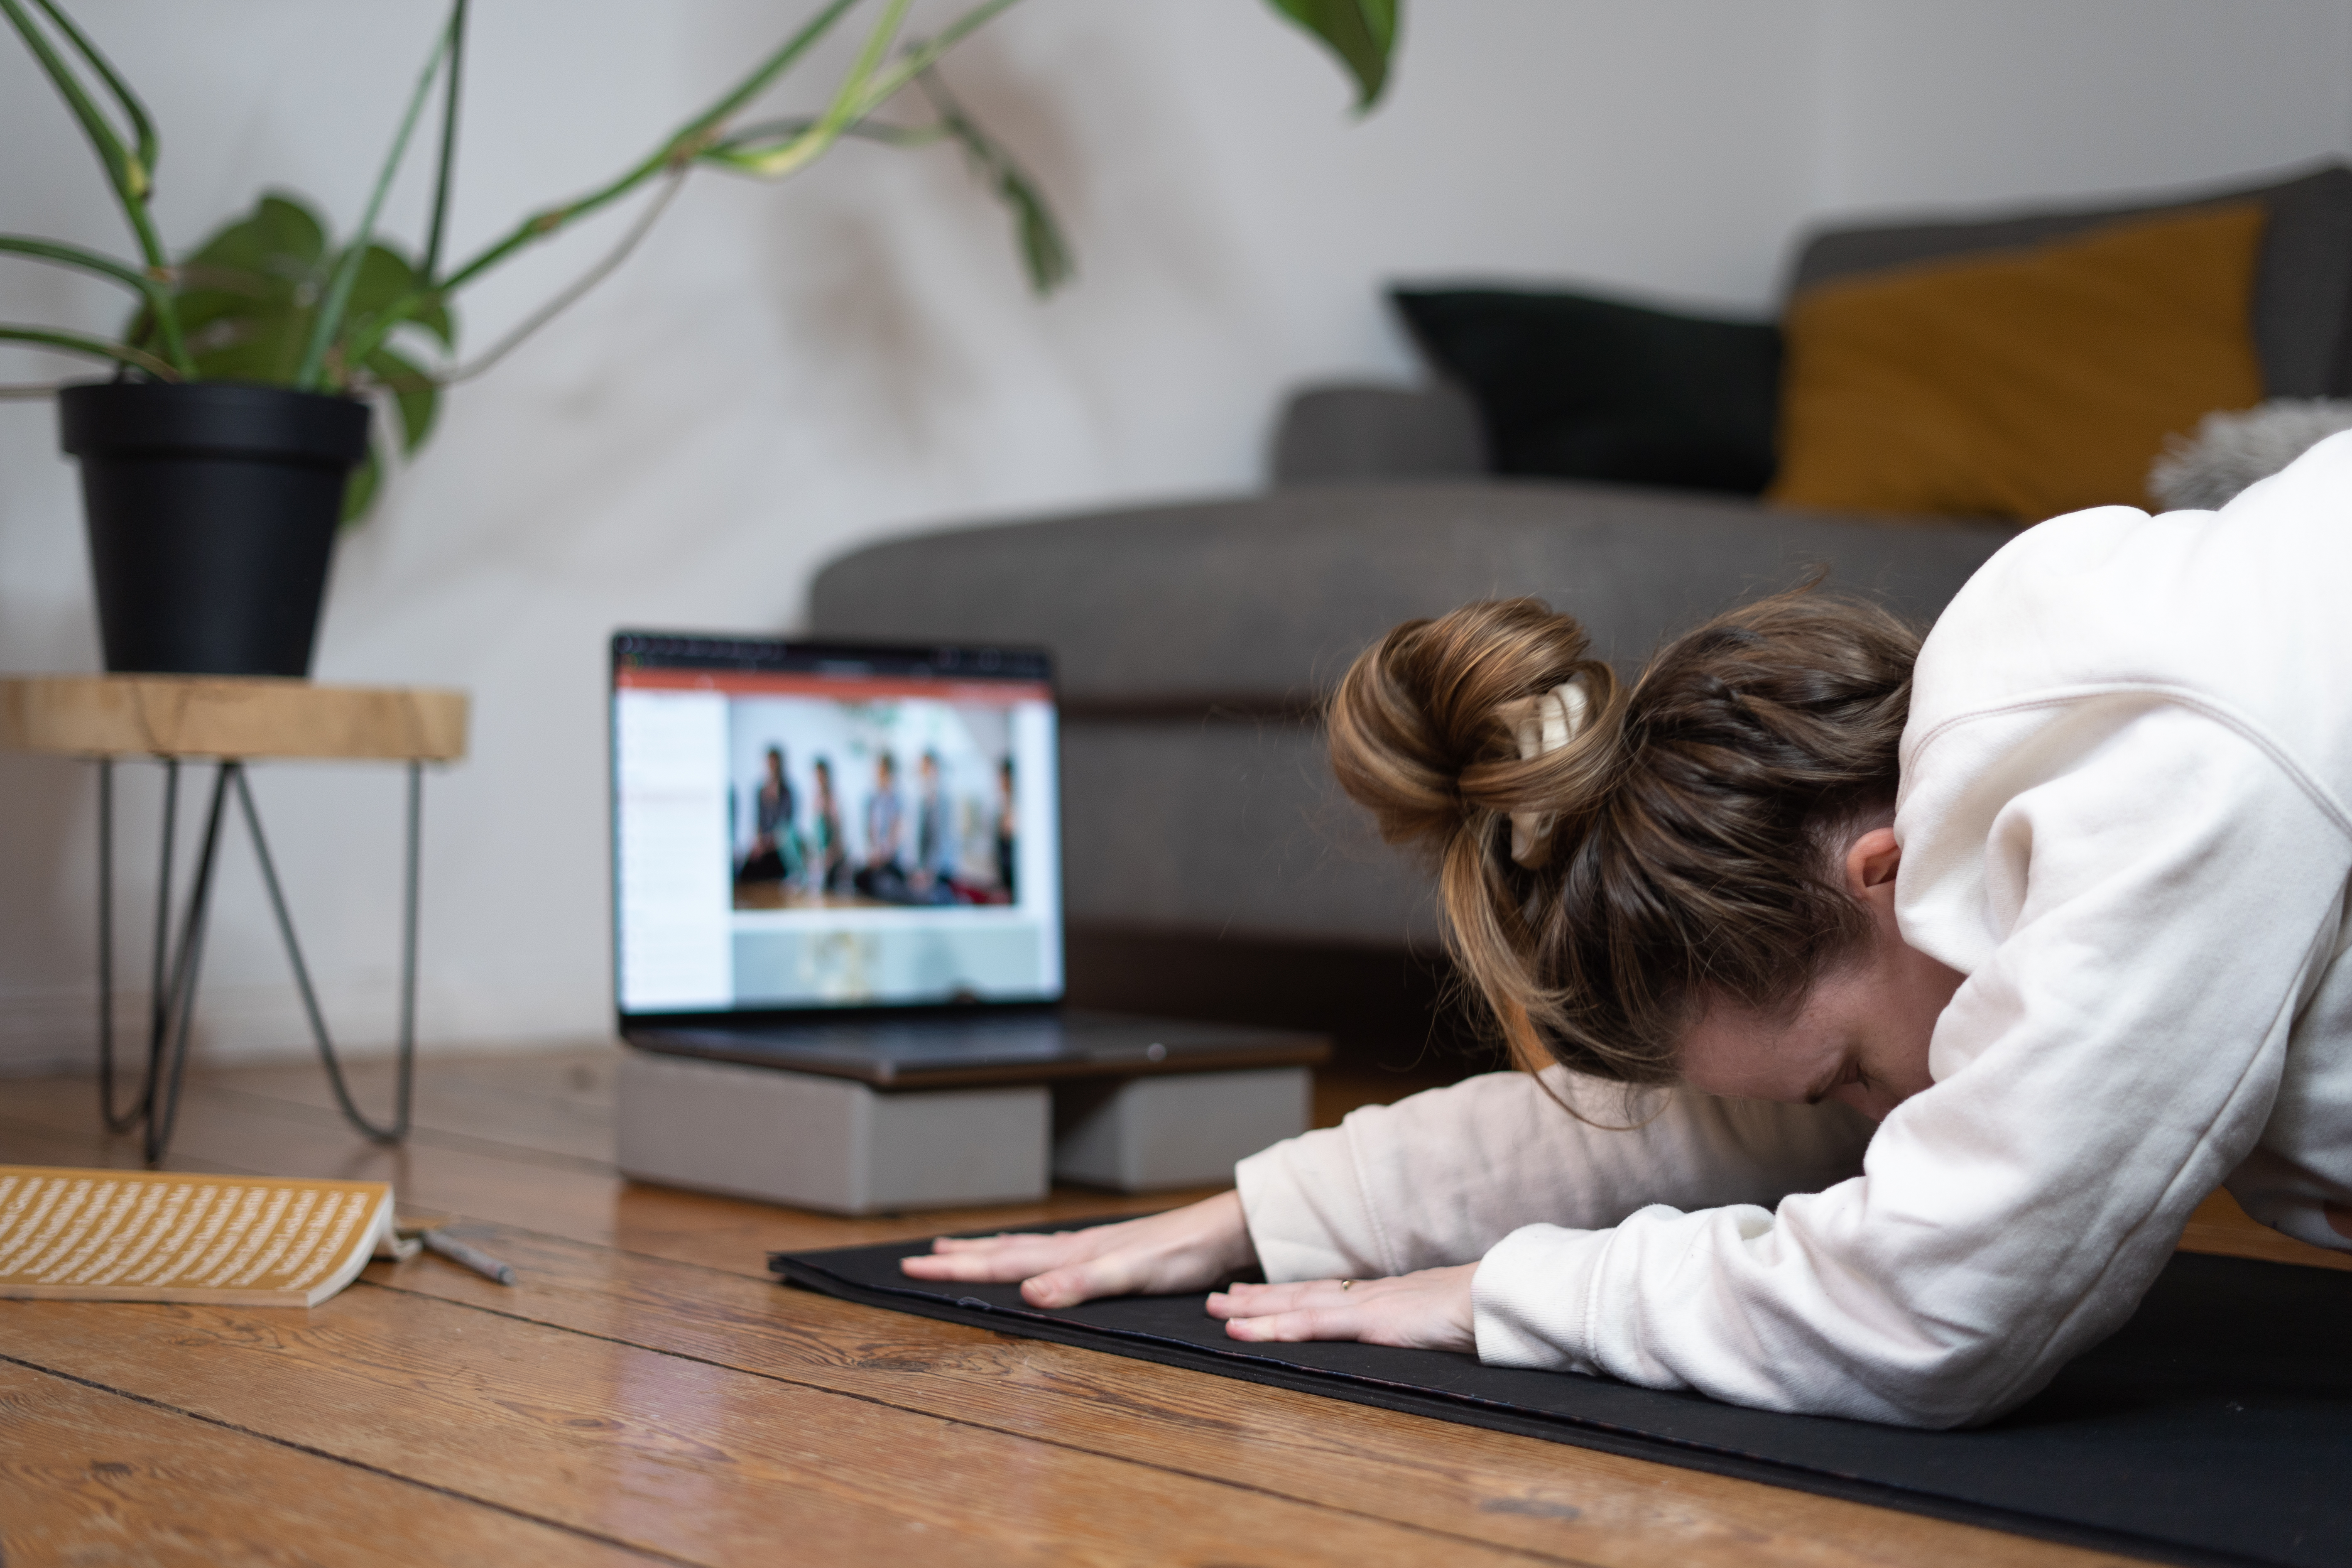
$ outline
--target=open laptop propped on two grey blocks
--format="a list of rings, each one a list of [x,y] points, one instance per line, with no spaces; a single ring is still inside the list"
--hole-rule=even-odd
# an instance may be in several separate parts
[[[1042,649],[614,632],[621,1037],[877,1088],[1324,1060],[1063,1006],[1058,762]]]

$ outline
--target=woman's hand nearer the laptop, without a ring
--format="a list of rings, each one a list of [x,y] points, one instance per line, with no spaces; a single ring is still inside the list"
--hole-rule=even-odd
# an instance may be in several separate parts
[[[1098,1295],[1207,1291],[1256,1262],[1242,1194],[1221,1192],[1190,1208],[1049,1237],[941,1237],[929,1253],[901,1258],[898,1267],[913,1279],[1018,1279],[1030,1307],[1075,1307]]]

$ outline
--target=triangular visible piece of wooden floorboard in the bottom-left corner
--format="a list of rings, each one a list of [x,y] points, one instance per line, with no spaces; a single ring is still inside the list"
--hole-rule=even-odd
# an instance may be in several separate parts
[[[0,1561],[642,1568],[661,1559],[0,1359]]]

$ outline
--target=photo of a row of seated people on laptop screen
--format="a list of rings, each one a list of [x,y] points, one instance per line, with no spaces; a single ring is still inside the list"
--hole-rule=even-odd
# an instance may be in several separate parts
[[[1011,905],[1016,785],[1000,705],[729,705],[734,907]]]

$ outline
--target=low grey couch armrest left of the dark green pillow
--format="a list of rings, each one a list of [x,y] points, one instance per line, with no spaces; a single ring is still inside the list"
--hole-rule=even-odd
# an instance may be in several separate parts
[[[1446,386],[1310,386],[1275,428],[1272,482],[1472,480],[1486,473],[1486,428],[1470,395]]]

